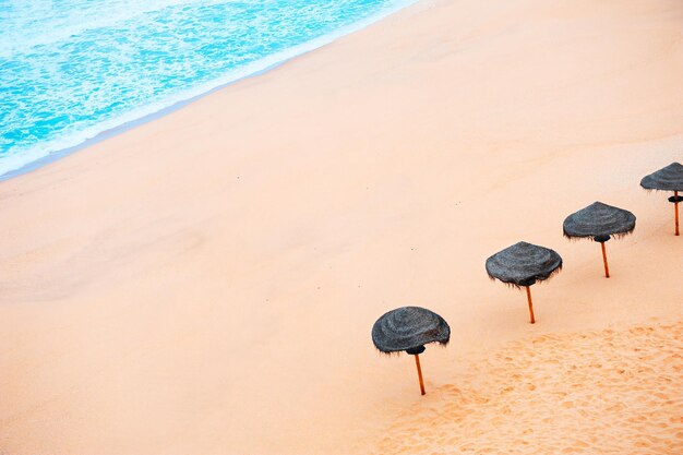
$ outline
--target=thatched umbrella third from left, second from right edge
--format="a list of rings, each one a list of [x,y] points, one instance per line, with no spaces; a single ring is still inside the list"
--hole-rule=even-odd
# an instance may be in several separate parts
[[[600,242],[604,276],[610,277],[604,242],[612,237],[623,237],[636,227],[636,216],[623,208],[594,202],[586,208],[567,216],[562,225],[564,236],[570,239],[589,238]]]

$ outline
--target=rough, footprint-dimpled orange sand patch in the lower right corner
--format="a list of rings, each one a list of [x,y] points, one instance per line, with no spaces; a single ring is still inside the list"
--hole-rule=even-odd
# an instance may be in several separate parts
[[[682,454],[683,322],[546,335],[407,409],[381,454]]]

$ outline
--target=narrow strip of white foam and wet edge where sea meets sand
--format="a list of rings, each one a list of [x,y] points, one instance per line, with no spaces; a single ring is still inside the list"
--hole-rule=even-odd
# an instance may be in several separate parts
[[[109,137],[112,137],[117,134],[121,134],[128,130],[131,130],[133,128],[136,128],[141,124],[154,121],[156,119],[159,119],[166,115],[169,115],[178,109],[181,109],[182,107],[187,106],[188,104],[194,103],[205,96],[208,96],[219,89],[223,89],[229,85],[236,84],[240,81],[243,81],[245,79],[250,79],[250,77],[257,77],[261,74],[264,74],[268,71],[274,70],[275,68],[292,60],[296,59],[298,57],[304,56],[309,52],[312,52],[314,50],[321,49],[325,46],[328,46],[331,44],[333,44],[334,41],[336,41],[337,39],[344,38],[345,36],[348,36],[350,34],[360,32],[388,16],[391,16],[392,14],[395,14],[402,10],[405,10],[406,8],[410,8],[412,5],[415,5],[416,3],[418,3],[420,0],[402,0],[400,4],[397,4],[394,8],[386,8],[383,10],[378,11],[376,13],[357,21],[352,24],[349,24],[347,26],[340,27],[337,31],[327,33],[325,35],[319,36],[315,39],[312,39],[310,41],[307,43],[301,43],[297,46],[293,46],[289,49],[276,52],[272,56],[267,56],[264,57],[261,60],[254,61],[248,65],[245,65],[244,68],[238,68],[235,70],[231,70],[229,73],[226,73],[223,76],[216,77],[213,81],[200,84],[199,86],[196,86],[195,88],[191,88],[191,89],[187,89],[185,92],[180,92],[173,96],[170,96],[168,98],[167,101],[157,101],[157,103],[152,103],[148,104],[146,106],[140,106],[137,107],[135,110],[128,112],[123,116],[120,117],[120,122],[118,124],[116,124],[112,128],[105,128],[101,131],[98,131],[96,133],[94,133],[93,136],[89,137],[85,137],[83,140],[80,140],[80,142],[77,144],[71,145],[71,146],[67,146],[63,148],[58,148],[51,152],[47,152],[47,155],[38,157],[36,159],[33,159],[22,166],[20,166],[16,169],[13,170],[9,170],[4,173],[0,175],[0,183],[4,180],[9,180],[12,179],[14,177],[21,176],[23,173],[27,173],[31,172],[33,170],[36,170],[43,166],[47,166],[50,163],[55,163],[61,158],[63,158],[64,156],[68,156],[72,153],[82,151],[84,148],[87,148],[92,145],[95,145],[101,141],[105,141]],[[422,0],[424,1],[424,0]],[[253,70],[252,70],[253,68]],[[187,94],[184,94],[187,93]],[[171,100],[175,99],[175,100]],[[168,105],[167,105],[168,104]],[[160,106],[158,109],[155,108],[154,106]],[[137,113],[134,112],[145,112],[149,109],[153,109],[152,111],[147,112],[147,113],[141,113],[140,116],[137,116]],[[128,118],[131,118],[131,120],[127,120]],[[109,119],[109,120],[104,120],[101,121],[99,124],[107,124],[109,122],[111,122],[113,119]],[[89,131],[92,129],[97,130],[97,125],[93,125],[89,127],[87,129],[85,129],[84,131],[74,133],[74,135],[82,135],[84,134],[86,131]],[[52,140],[51,140],[52,141]],[[47,144],[49,144],[51,141],[47,141]],[[59,140],[59,141],[63,141]],[[37,146],[38,144],[36,144]],[[34,147],[35,148],[35,147]],[[31,149],[34,149],[31,148]],[[28,153],[31,149],[24,151],[25,153]]]

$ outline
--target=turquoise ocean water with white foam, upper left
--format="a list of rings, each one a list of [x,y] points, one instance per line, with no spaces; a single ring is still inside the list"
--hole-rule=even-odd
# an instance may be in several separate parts
[[[0,0],[0,176],[415,0]]]

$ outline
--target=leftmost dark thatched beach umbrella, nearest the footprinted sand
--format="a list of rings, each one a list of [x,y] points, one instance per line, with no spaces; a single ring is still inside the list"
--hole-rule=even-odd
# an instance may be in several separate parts
[[[448,344],[451,327],[439,314],[420,307],[402,307],[380,318],[372,326],[372,343],[382,352],[406,352],[415,356],[420,392],[424,382],[420,368],[420,354],[428,343]]]

